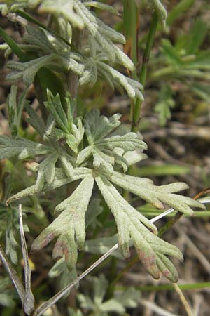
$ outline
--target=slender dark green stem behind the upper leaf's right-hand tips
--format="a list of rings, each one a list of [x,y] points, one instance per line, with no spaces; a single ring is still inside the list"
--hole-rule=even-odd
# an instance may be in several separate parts
[[[153,20],[151,22],[151,27],[148,33],[148,38],[146,41],[146,48],[144,50],[144,55],[142,58],[142,66],[141,66],[141,73],[139,77],[139,81],[141,82],[142,86],[145,86],[146,83],[146,73],[148,67],[148,60],[151,55],[151,48],[153,46],[153,42],[155,39],[155,32],[158,26],[158,15],[157,13],[153,13]],[[136,103],[134,104],[134,110],[132,114],[132,131],[138,131],[138,124],[140,119],[140,112],[141,112],[141,104],[142,101],[137,98]]]

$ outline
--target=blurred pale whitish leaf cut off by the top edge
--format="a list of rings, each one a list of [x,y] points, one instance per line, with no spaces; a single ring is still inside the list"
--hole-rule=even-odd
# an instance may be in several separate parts
[[[62,15],[74,27],[83,29],[83,19],[75,13],[73,8],[74,0],[44,0],[39,7],[40,12],[52,13],[54,15]]]

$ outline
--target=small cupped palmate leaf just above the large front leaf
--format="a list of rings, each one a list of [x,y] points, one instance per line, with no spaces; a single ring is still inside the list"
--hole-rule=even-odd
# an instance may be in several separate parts
[[[146,143],[139,138],[137,133],[109,137],[109,134],[120,125],[119,119],[120,114],[115,114],[110,119],[100,116],[99,110],[92,110],[87,114],[85,117],[85,134],[89,146],[78,154],[78,166],[92,154],[94,169],[102,168],[112,174],[113,166],[120,164],[124,171],[127,171],[127,161],[123,154],[139,148],[145,149]],[[115,151],[116,148],[123,149],[121,154]]]

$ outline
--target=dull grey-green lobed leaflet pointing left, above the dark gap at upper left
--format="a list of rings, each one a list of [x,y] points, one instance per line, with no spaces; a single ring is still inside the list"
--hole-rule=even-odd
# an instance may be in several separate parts
[[[56,58],[57,55],[50,54],[30,60],[29,62],[10,61],[7,63],[7,67],[15,71],[8,74],[6,79],[16,80],[22,77],[24,84],[30,86],[34,82],[34,77],[38,70],[40,70],[41,67],[47,66],[49,62]]]

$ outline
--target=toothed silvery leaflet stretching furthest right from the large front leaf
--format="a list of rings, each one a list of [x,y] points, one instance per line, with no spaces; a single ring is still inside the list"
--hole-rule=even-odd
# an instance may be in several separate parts
[[[205,206],[195,199],[174,194],[174,192],[188,189],[186,183],[156,186],[149,179],[127,176],[118,172],[114,172],[110,180],[116,185],[123,187],[123,189],[134,193],[134,195],[145,199],[146,202],[155,205],[159,209],[164,209],[162,203],[166,203],[177,211],[189,215],[193,215],[194,213],[190,206],[205,209]]]

